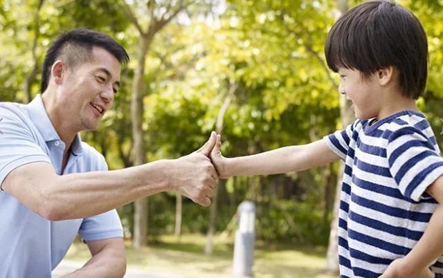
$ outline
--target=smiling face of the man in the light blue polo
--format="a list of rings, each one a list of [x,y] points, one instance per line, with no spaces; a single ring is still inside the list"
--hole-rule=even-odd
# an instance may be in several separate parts
[[[93,47],[92,54],[91,61],[68,69],[63,82],[62,113],[67,113],[78,131],[98,128],[120,86],[118,59],[98,47]]]

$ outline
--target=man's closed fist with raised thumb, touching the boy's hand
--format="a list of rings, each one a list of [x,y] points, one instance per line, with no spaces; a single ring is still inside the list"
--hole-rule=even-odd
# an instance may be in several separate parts
[[[188,156],[172,160],[169,175],[172,190],[205,207],[210,205],[217,186],[218,175],[208,158],[215,141],[216,133],[213,131],[203,147]]]

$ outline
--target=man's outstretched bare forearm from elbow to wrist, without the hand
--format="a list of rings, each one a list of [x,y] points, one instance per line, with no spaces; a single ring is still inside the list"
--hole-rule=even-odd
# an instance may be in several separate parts
[[[44,187],[47,219],[78,219],[120,207],[138,198],[169,189],[170,160],[107,172],[57,176]]]

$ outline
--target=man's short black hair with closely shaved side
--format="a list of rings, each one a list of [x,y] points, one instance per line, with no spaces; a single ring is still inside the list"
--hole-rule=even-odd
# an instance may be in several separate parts
[[[46,52],[43,62],[41,92],[46,91],[51,68],[57,60],[60,59],[66,66],[75,68],[75,66],[93,58],[93,46],[104,48],[116,57],[120,64],[126,64],[129,61],[129,55],[127,55],[125,48],[108,35],[85,28],[69,30],[57,37]]]

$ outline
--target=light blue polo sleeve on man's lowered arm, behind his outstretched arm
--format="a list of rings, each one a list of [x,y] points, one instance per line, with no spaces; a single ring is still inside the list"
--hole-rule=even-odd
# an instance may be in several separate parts
[[[99,154],[99,157],[98,171],[107,171],[105,158],[101,154]],[[109,212],[83,219],[78,233],[84,241],[98,241],[100,239],[123,237],[123,227],[117,211],[110,210]]]

